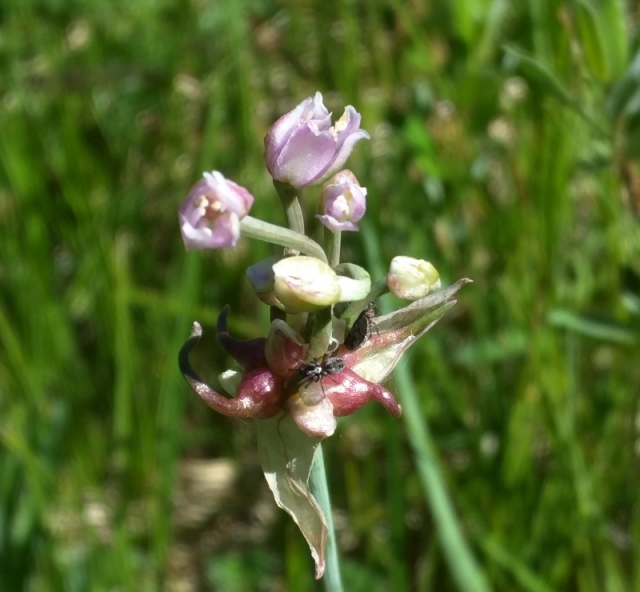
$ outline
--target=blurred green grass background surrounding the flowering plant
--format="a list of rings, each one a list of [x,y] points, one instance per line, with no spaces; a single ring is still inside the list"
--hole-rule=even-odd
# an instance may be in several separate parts
[[[384,263],[475,282],[408,369],[492,589],[640,590],[637,19],[622,0],[3,3],[0,589],[319,589],[251,425],[210,413],[175,356],[197,318],[198,366],[226,367],[226,302],[237,334],[267,326],[244,269],[269,249],[184,253],[183,196],[215,168],[281,221],[262,137],[321,90],[372,135],[350,166]],[[325,455],[346,589],[457,589],[402,424],[364,409]],[[219,467],[185,477],[201,459],[230,491]]]

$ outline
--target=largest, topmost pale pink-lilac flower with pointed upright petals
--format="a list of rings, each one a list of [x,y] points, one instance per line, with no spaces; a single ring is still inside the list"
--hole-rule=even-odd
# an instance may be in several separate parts
[[[267,169],[294,187],[320,183],[339,170],[356,142],[369,138],[351,106],[331,125],[331,113],[317,92],[276,121],[264,138]]]

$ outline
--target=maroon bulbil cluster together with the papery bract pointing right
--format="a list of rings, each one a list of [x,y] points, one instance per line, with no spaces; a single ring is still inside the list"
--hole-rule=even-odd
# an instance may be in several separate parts
[[[189,363],[189,353],[202,329],[193,324],[189,340],[180,350],[180,370],[189,386],[215,411],[229,417],[267,419],[281,411],[291,414],[298,428],[312,438],[326,438],[336,429],[336,417],[354,413],[369,401],[378,401],[394,417],[402,409],[380,385],[406,349],[428,331],[455,304],[453,294],[468,280],[431,294],[400,311],[372,321],[375,330],[355,351],[342,346],[333,354],[337,371],[327,371],[323,361],[305,361],[307,345],[284,321],[276,320],[265,338],[239,340],[227,329],[229,307],[218,317],[220,346],[243,368],[229,371],[221,382],[233,398],[203,382]]]

